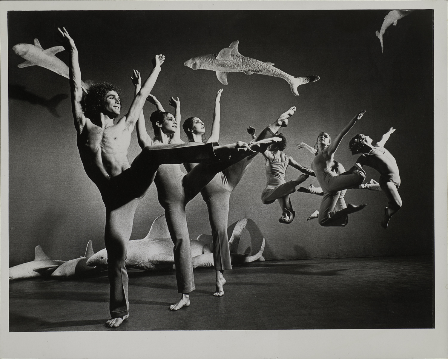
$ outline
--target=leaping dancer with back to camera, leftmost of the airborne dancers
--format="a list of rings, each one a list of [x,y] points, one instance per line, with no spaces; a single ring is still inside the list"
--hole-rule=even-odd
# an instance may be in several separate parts
[[[289,195],[295,192],[296,186],[306,181],[310,175],[314,176],[314,172],[297,163],[292,157],[287,156],[283,152],[284,148],[286,148],[286,138],[281,133],[277,136],[282,139],[281,142],[271,144],[263,152],[263,156],[266,158],[267,183],[266,188],[261,194],[261,200],[264,204],[270,204],[277,199],[282,209],[282,216],[279,218],[279,222],[289,224],[296,215],[296,212],[293,211]],[[301,174],[294,181],[286,182],[284,176],[288,165],[306,174]]]

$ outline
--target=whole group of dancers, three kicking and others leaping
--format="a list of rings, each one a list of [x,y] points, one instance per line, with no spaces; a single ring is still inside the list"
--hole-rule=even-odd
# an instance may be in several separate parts
[[[155,56],[154,68],[145,81],[142,81],[140,73],[134,70],[131,76],[135,87],[134,99],[128,113],[114,124],[114,119],[120,115],[121,110],[119,89],[115,85],[102,82],[91,85],[84,94],[78,50],[67,30],[58,30],[64,47],[70,54],[69,82],[74,124],[78,132],[78,150],[84,169],[99,188],[106,207],[104,242],[108,252],[111,313],[111,319],[106,322],[107,326],[118,327],[129,317],[128,275],[125,268],[127,246],[138,200],[145,195],[152,182],[155,182],[157,187],[159,203],[164,207],[168,230],[174,243],[177,288],[181,299],[170,306],[172,310],[190,305],[189,293],[195,289],[186,204],[199,192],[207,204],[216,272],[214,296],[222,296],[224,270],[232,269],[227,237],[230,194],[259,152],[266,158],[268,178],[262,202],[268,204],[277,200],[280,203],[280,223],[289,224],[293,221],[295,212],[289,194],[312,175],[318,179],[321,189],[301,187],[298,191],[316,194],[322,192],[319,224],[344,226],[349,213],[365,207],[350,204],[346,206],[344,202],[345,190],[369,185],[362,185],[366,176],[362,165],[371,166],[381,174],[378,185],[390,201],[385,209],[383,227],[387,227],[389,218],[400,209],[401,199],[396,190],[400,184],[398,168],[393,156],[382,147],[391,131],[384,135],[375,147],[371,145],[372,141],[368,136],[355,136],[350,141],[350,149],[352,153],[362,153],[362,156],[347,172],[341,173],[343,167],[333,158],[342,137],[364,112],[349,122],[333,144],[327,133],[319,135],[315,145],[316,157],[311,169],[303,167],[282,152],[286,139],[278,131],[281,127],[288,126],[289,118],[296,111],[295,107],[281,114],[258,136],[255,136],[255,129],[250,127],[248,132],[252,140],[248,144],[238,141],[220,146],[217,142],[222,89],[216,94],[212,130],[208,139],[205,139],[203,122],[197,117],[190,117],[182,124],[189,139],[189,143],[184,143],[180,135],[179,98],[170,98],[170,105],[175,109],[173,116],[151,95],[164,63],[163,55]],[[146,132],[142,111],[146,100],[157,107],[150,116],[154,139]],[[142,152],[129,164],[127,154],[135,125]],[[301,146],[305,147],[305,144],[299,144],[298,148],[302,148]],[[181,171],[181,164],[184,164],[187,174]],[[288,165],[304,174],[295,181],[285,182],[284,175]]]

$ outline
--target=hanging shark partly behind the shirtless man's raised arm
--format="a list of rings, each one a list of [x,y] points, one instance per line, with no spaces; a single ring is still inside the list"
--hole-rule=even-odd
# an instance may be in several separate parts
[[[18,68],[37,65],[42,68],[47,68],[52,72],[56,72],[58,75],[68,79],[69,67],[55,56],[58,52],[64,50],[64,46],[53,46],[43,50],[37,38],[34,39],[34,45],[21,43],[13,46],[13,51],[16,55],[19,55],[26,60],[25,62],[19,63],[17,65]],[[82,81],[81,86],[85,91],[89,89],[89,86]]]

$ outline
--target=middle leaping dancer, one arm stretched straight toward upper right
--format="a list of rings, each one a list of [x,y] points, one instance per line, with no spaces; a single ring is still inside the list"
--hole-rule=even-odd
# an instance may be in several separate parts
[[[335,142],[331,143],[331,137],[327,132],[321,132],[317,138],[314,148],[316,156],[311,168],[316,174],[320,186],[323,189],[322,204],[319,209],[319,224],[321,226],[345,226],[349,221],[349,213],[362,210],[365,204],[354,206],[345,205],[344,190],[358,187],[364,181],[366,173],[361,166],[352,171],[338,175],[333,172],[335,160],[334,154],[344,135],[353,127],[356,121],[362,118],[365,111],[353,117],[347,126],[337,135]]]

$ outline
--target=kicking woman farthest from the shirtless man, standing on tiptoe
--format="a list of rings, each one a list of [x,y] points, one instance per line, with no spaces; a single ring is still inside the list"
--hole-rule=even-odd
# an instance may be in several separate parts
[[[216,93],[215,111],[211,125],[210,137],[205,141],[204,123],[198,117],[187,118],[182,127],[190,142],[202,144],[217,142],[220,136],[220,97],[222,89]],[[291,107],[288,111],[281,114],[277,120],[267,127],[257,138],[257,140],[274,136],[280,127],[288,124],[288,118],[291,117],[296,108]],[[257,152],[258,153],[258,152]],[[241,177],[250,166],[257,153],[250,155],[237,163],[231,165],[224,171],[217,173],[215,177],[201,190],[202,199],[207,203],[208,218],[210,220],[211,234],[213,237],[213,262],[216,274],[216,291],[214,296],[224,295],[223,286],[226,283],[224,279],[224,270],[232,269],[230,251],[228,246],[227,224],[230,194],[240,182]],[[185,169],[190,171],[195,165],[185,163]]]

